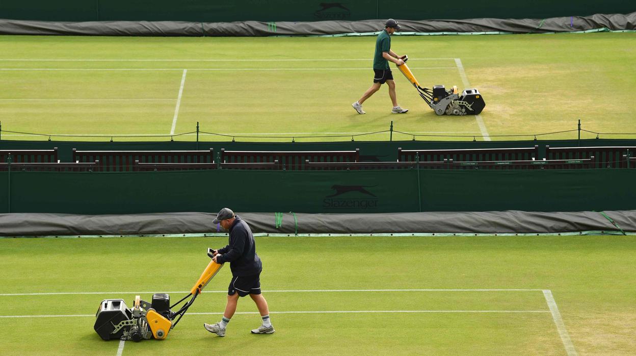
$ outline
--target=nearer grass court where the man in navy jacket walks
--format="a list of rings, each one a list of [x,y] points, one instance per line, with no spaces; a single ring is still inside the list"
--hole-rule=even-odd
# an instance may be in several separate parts
[[[207,247],[225,243],[0,239],[0,348],[7,355],[116,355],[120,341],[93,332],[100,301],[121,297],[128,304],[135,292],[147,300],[151,292],[171,292],[174,303],[209,262]],[[121,354],[565,355],[543,290],[551,291],[579,355],[636,349],[636,242],[629,236],[258,237],[256,243],[275,334],[249,334],[259,324],[249,300],[239,302],[225,338],[203,329],[225,306],[231,278],[225,266],[167,339],[127,341]]]

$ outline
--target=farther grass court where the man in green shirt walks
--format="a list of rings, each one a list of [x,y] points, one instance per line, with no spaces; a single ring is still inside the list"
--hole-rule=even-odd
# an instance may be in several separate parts
[[[205,132],[263,137],[239,138],[243,141],[386,131],[391,120],[396,131],[468,136],[418,139],[569,131],[578,119],[589,131],[634,133],[635,39],[634,33],[394,36],[392,48],[409,55],[422,85],[476,87],[485,97],[480,117],[438,117],[397,69],[398,101],[410,113],[390,113],[386,88],[364,103],[366,115],[350,108],[372,82],[373,36],[0,36],[0,121],[3,131],[115,136],[193,132],[200,122]],[[582,138],[595,136],[583,132]],[[394,139],[411,138],[394,134]],[[2,139],[48,136],[3,132]],[[195,135],[176,139],[194,140]]]

